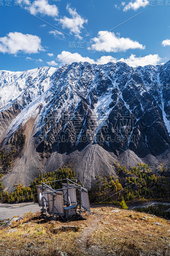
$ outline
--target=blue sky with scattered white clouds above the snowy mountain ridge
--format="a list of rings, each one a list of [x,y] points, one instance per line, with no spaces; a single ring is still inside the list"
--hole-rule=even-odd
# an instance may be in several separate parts
[[[167,0],[0,0],[0,70],[74,61],[165,63],[169,12]]]

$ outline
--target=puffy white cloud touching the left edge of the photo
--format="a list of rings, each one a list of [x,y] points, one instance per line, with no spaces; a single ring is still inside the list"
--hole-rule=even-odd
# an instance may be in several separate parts
[[[0,52],[17,54],[18,52],[38,53],[45,51],[41,46],[41,38],[19,32],[10,32],[7,36],[0,37]]]

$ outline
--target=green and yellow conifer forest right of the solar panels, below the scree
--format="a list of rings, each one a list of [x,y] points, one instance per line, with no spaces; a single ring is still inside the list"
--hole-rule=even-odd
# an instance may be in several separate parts
[[[162,164],[157,169],[151,170],[147,164],[138,163],[138,166],[133,166],[128,170],[125,166],[114,162],[113,168],[117,177],[111,175],[110,177],[96,177],[96,186],[89,191],[91,203],[120,206],[122,198],[129,205],[153,200],[162,202],[162,204],[170,203],[169,172]],[[162,206],[162,208],[167,207]],[[164,212],[161,209],[150,211],[150,213],[170,219],[169,211]],[[145,210],[148,212],[148,209]]]

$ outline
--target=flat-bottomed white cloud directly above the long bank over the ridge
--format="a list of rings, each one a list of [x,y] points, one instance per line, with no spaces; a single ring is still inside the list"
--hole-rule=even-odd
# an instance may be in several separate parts
[[[133,41],[130,38],[116,36],[115,33],[99,31],[97,37],[92,39],[92,44],[88,50],[99,52],[125,52],[128,49],[145,49],[145,46]]]

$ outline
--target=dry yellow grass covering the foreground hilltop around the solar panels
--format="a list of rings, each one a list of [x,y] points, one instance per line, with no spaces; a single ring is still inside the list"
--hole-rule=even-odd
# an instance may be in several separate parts
[[[129,217],[131,214],[134,216]],[[92,208],[92,214],[84,213],[83,217],[83,220],[52,224],[27,216],[19,223],[0,230],[0,255],[62,255],[60,252],[74,256],[170,255],[170,222],[165,219],[113,207]],[[31,223],[23,225],[26,221]],[[54,227],[67,225],[78,226],[80,230],[51,232]],[[5,232],[12,228],[18,231]]]

